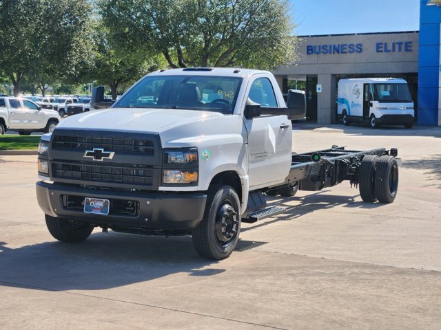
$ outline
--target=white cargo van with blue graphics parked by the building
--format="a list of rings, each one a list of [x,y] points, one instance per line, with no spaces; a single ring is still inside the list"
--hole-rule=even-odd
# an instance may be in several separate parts
[[[343,124],[369,122],[404,125],[411,129],[415,121],[413,100],[404,79],[356,78],[338,82],[337,115]]]

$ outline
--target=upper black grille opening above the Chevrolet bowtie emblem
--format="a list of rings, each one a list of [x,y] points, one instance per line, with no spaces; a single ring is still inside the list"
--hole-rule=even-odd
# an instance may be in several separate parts
[[[122,151],[123,153],[143,153],[154,155],[152,140],[124,139],[114,137],[83,137],[56,135],[52,148],[85,149],[103,148],[105,151]]]

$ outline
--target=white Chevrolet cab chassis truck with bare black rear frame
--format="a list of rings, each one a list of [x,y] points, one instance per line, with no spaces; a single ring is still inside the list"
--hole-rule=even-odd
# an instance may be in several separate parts
[[[241,222],[283,212],[267,207],[267,195],[349,180],[364,201],[396,197],[395,148],[292,153],[291,120],[305,115],[305,94],[290,91],[285,104],[269,72],[161,70],[110,109],[102,100],[99,87],[92,107],[101,110],[41,138],[37,199],[59,241],[83,241],[95,227],[191,234],[198,254],[224,259]]]

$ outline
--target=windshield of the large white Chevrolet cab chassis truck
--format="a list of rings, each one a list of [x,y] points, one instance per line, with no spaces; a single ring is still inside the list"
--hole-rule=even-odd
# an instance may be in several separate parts
[[[242,78],[147,76],[114,107],[193,109],[231,114]]]

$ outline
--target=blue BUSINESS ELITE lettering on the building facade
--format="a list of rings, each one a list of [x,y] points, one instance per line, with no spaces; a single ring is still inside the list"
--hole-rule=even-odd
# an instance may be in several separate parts
[[[307,55],[327,54],[360,54],[363,52],[362,43],[340,43],[331,45],[307,45]],[[412,41],[394,41],[393,43],[376,43],[377,53],[413,52]]]

